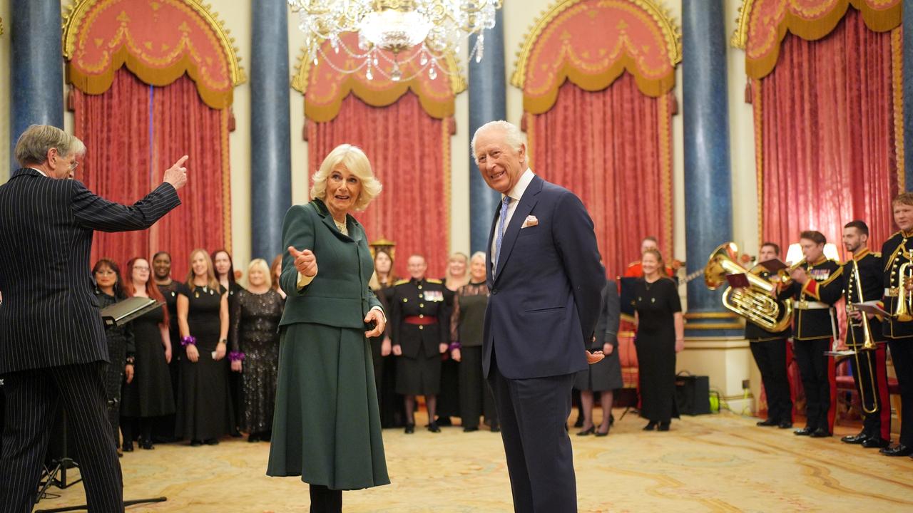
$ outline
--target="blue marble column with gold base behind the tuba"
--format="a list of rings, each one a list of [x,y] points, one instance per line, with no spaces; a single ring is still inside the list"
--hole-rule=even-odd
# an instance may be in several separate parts
[[[693,271],[706,265],[714,248],[732,240],[723,0],[682,3],[682,44],[685,240],[687,269]],[[728,313],[720,295],[720,290],[709,290],[702,279],[688,283],[689,336],[734,334],[731,325],[738,319],[720,315]]]

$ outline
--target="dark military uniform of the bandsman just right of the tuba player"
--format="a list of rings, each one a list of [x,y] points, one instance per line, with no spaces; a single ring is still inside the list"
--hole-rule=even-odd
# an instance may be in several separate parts
[[[780,299],[793,299],[792,351],[805,390],[805,429],[796,433],[813,434],[822,430],[831,434],[836,413],[836,382],[834,359],[824,353],[831,351],[836,337],[834,303],[843,296],[844,283],[838,279],[843,267],[821,257],[817,262],[805,264],[805,271],[809,279],[803,285],[792,282],[780,292]]]

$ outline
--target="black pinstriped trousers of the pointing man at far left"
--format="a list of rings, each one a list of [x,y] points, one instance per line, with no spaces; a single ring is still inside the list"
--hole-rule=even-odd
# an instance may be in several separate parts
[[[75,459],[89,511],[123,511],[121,464],[108,422],[105,365],[97,361],[4,375],[0,513],[32,510],[60,401],[68,414],[68,429],[74,434]]]

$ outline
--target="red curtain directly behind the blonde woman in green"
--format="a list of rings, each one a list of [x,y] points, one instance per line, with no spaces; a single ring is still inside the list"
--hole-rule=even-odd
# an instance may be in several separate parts
[[[443,277],[449,246],[450,123],[432,118],[411,91],[394,104],[371,107],[350,94],[339,115],[308,123],[308,174],[333,148],[354,144],[368,155],[383,191],[355,217],[368,240],[396,243],[396,273],[407,258],[425,256],[428,277]]]

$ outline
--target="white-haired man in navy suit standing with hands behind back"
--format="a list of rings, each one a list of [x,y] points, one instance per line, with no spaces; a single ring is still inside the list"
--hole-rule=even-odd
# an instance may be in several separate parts
[[[482,367],[498,407],[514,510],[573,512],[565,429],[573,377],[602,357],[586,351],[605,284],[593,221],[577,196],[532,173],[516,126],[483,125],[472,153],[501,194],[488,239]]]

